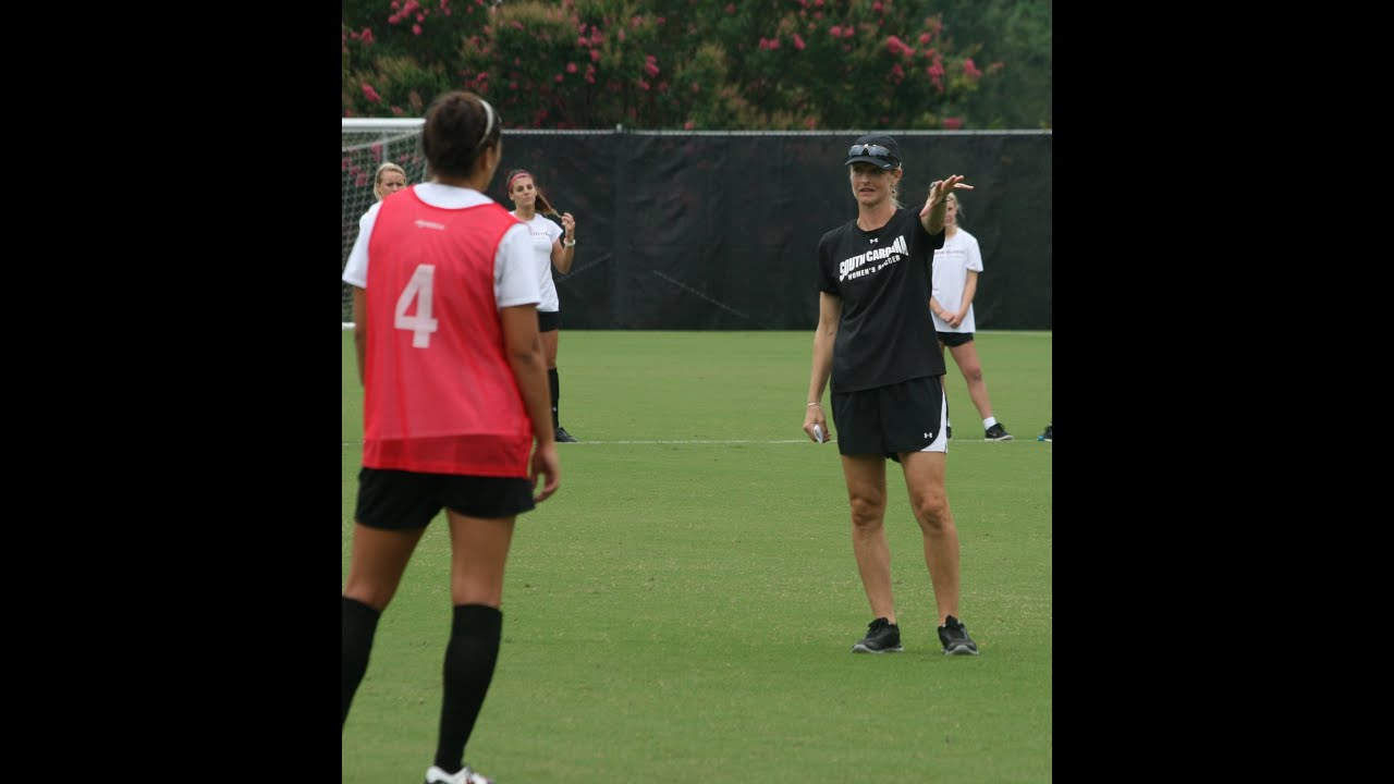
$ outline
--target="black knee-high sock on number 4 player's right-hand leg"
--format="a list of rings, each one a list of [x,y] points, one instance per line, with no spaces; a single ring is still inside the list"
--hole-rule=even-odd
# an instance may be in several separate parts
[[[459,604],[445,649],[445,698],[441,700],[441,735],[436,767],[457,773],[464,766],[464,744],[484,707],[484,695],[499,658],[503,614],[484,604]]]

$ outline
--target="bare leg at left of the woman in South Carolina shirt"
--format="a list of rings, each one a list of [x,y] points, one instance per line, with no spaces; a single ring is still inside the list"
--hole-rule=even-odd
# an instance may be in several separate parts
[[[885,458],[843,455],[842,476],[848,480],[852,505],[852,552],[857,558],[861,587],[871,614],[895,624],[891,596],[891,545],[885,540]]]

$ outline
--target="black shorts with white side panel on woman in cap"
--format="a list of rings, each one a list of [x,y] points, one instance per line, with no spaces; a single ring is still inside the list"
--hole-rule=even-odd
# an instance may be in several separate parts
[[[919,452],[940,437],[948,412],[940,375],[832,396],[832,424],[842,455]]]

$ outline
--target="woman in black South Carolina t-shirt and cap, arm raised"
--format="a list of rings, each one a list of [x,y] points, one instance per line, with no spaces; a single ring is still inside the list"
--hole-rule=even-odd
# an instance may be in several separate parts
[[[944,199],[972,190],[960,174],[930,184],[919,213],[901,206],[901,148],[884,134],[859,138],[845,166],[857,219],[818,241],[818,328],[803,430],[831,437],[822,389],[832,381],[832,419],[852,506],[852,550],[875,619],[855,653],[901,651],[885,537],[885,459],[901,463],[924,536],[924,562],[938,605],[945,654],[977,654],[958,619],[959,540],[944,488],[948,417],[944,357],[930,317],[931,264],[944,246]]]

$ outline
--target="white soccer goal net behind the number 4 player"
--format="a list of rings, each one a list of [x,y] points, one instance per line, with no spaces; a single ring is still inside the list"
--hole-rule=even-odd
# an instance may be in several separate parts
[[[367,120],[344,117],[340,135],[342,160],[339,162],[343,184],[340,199],[343,205],[342,254],[339,258],[339,304],[340,326],[353,329],[353,287],[343,282],[348,251],[358,239],[358,219],[378,199],[372,193],[372,179],[378,166],[393,162],[407,173],[407,184],[414,186],[427,177],[427,160],[421,155],[421,117],[397,120]]]

